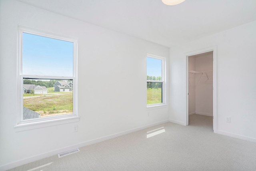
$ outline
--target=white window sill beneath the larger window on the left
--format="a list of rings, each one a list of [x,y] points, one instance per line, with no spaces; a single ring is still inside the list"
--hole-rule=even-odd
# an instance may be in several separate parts
[[[65,118],[58,118],[58,119],[51,119],[47,121],[35,121],[31,123],[21,123],[18,125],[15,125],[15,131],[20,132],[20,131],[26,131],[30,129],[37,129],[37,128],[42,128],[42,127],[50,127],[54,125],[61,125],[65,123],[72,123],[72,122],[78,122],[79,117],[74,116],[74,117],[65,117]]]

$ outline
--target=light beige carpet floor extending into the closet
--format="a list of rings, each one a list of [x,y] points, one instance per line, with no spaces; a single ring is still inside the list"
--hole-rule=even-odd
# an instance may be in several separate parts
[[[189,126],[164,123],[9,171],[256,171],[256,143],[213,133],[212,117],[189,120]]]

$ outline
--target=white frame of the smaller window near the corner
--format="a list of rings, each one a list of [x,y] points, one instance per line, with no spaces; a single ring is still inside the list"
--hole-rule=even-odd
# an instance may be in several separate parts
[[[152,54],[147,54],[147,58],[154,58],[157,60],[162,61],[162,81],[157,81],[157,80],[147,80],[148,82],[155,82],[155,83],[162,83],[162,103],[154,103],[154,104],[147,104],[147,108],[151,107],[164,107],[166,106],[166,58],[161,57],[161,56],[156,56]],[[148,97],[147,97],[148,100]],[[147,101],[146,101],[147,103]]]

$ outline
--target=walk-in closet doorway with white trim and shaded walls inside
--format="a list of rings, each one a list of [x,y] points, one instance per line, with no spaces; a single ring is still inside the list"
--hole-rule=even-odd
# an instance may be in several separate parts
[[[213,131],[217,133],[216,47],[190,52],[186,54],[186,62],[187,125],[189,115],[210,116]]]

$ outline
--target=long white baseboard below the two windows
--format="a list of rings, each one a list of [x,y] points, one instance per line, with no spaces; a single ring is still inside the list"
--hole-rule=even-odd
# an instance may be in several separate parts
[[[98,138],[98,139],[93,139],[93,140],[86,141],[86,142],[83,142],[83,143],[78,143],[78,144],[75,144],[75,145],[72,145],[72,146],[69,146],[69,147],[56,149],[54,151],[49,151],[47,153],[42,153],[42,154],[39,154],[39,155],[35,155],[35,156],[32,156],[32,157],[28,157],[28,158],[25,158],[25,159],[14,161],[12,163],[8,163],[6,165],[0,166],[0,171],[6,171],[8,169],[18,167],[20,165],[24,165],[24,164],[27,164],[27,163],[31,163],[33,161],[44,159],[46,157],[51,157],[53,155],[57,155],[58,153],[63,153],[63,152],[66,152],[66,151],[70,151],[72,149],[84,147],[84,146],[91,145],[91,144],[94,144],[94,143],[99,143],[99,142],[102,142],[102,141],[105,141],[105,140],[108,140],[108,139],[119,137],[119,136],[122,136],[122,135],[125,135],[125,134],[128,134],[128,133],[132,133],[132,132],[135,132],[135,131],[140,131],[142,129],[146,129],[148,127],[160,125],[162,123],[167,123],[167,122],[169,122],[169,120],[164,120],[164,121],[152,123],[152,124],[149,124],[149,125],[145,125],[145,126],[142,126],[142,127],[135,128],[135,129],[130,129],[128,131],[123,131],[123,132],[116,133],[116,134],[113,134],[113,135],[108,135],[108,136],[101,137],[101,138]]]

